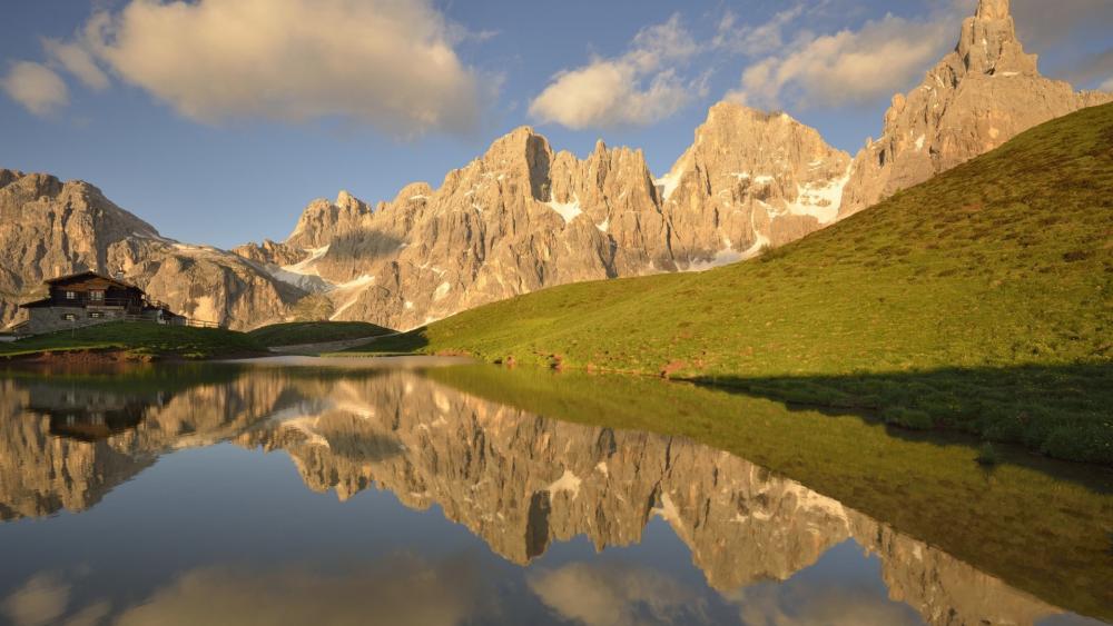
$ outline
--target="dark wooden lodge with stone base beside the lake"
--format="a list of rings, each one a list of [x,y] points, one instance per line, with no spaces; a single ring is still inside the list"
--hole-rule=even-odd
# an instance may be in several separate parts
[[[186,318],[147,297],[142,289],[95,271],[60,276],[46,281],[48,295],[20,305],[27,319],[13,329],[19,335],[93,326],[107,321],[151,321],[183,326]]]

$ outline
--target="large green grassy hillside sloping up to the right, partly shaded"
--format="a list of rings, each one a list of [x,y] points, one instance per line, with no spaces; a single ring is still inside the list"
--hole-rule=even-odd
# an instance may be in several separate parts
[[[666,374],[1113,464],[1113,106],[760,259],[579,284],[373,349]]]

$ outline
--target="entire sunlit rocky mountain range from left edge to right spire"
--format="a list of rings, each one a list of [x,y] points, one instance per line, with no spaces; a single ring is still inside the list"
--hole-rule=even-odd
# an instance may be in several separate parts
[[[715,105],[654,178],[640,150],[585,159],[519,128],[434,189],[372,206],[342,191],[285,241],[232,251],[168,239],[96,187],[0,170],[0,324],[41,281],[96,269],[233,328],[288,319],[410,329],[546,287],[756,257],[1113,95],[1038,73],[1008,0],[982,0],[923,85],[857,156],[786,113]]]

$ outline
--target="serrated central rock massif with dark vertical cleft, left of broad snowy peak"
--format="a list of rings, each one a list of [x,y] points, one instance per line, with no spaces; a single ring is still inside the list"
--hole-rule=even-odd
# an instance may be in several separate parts
[[[651,271],[664,232],[640,153],[600,146],[581,161],[520,128],[437,189],[413,183],[374,210],[346,193],[311,203],[284,242],[307,260],[275,276],[323,279],[332,319],[412,328],[548,286]],[[641,244],[633,256],[615,244],[627,240]]]

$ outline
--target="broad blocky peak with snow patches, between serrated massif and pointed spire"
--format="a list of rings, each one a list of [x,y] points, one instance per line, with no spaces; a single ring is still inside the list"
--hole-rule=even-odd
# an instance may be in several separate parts
[[[837,217],[849,162],[787,113],[720,102],[657,180],[673,249],[702,269],[815,231]]]

